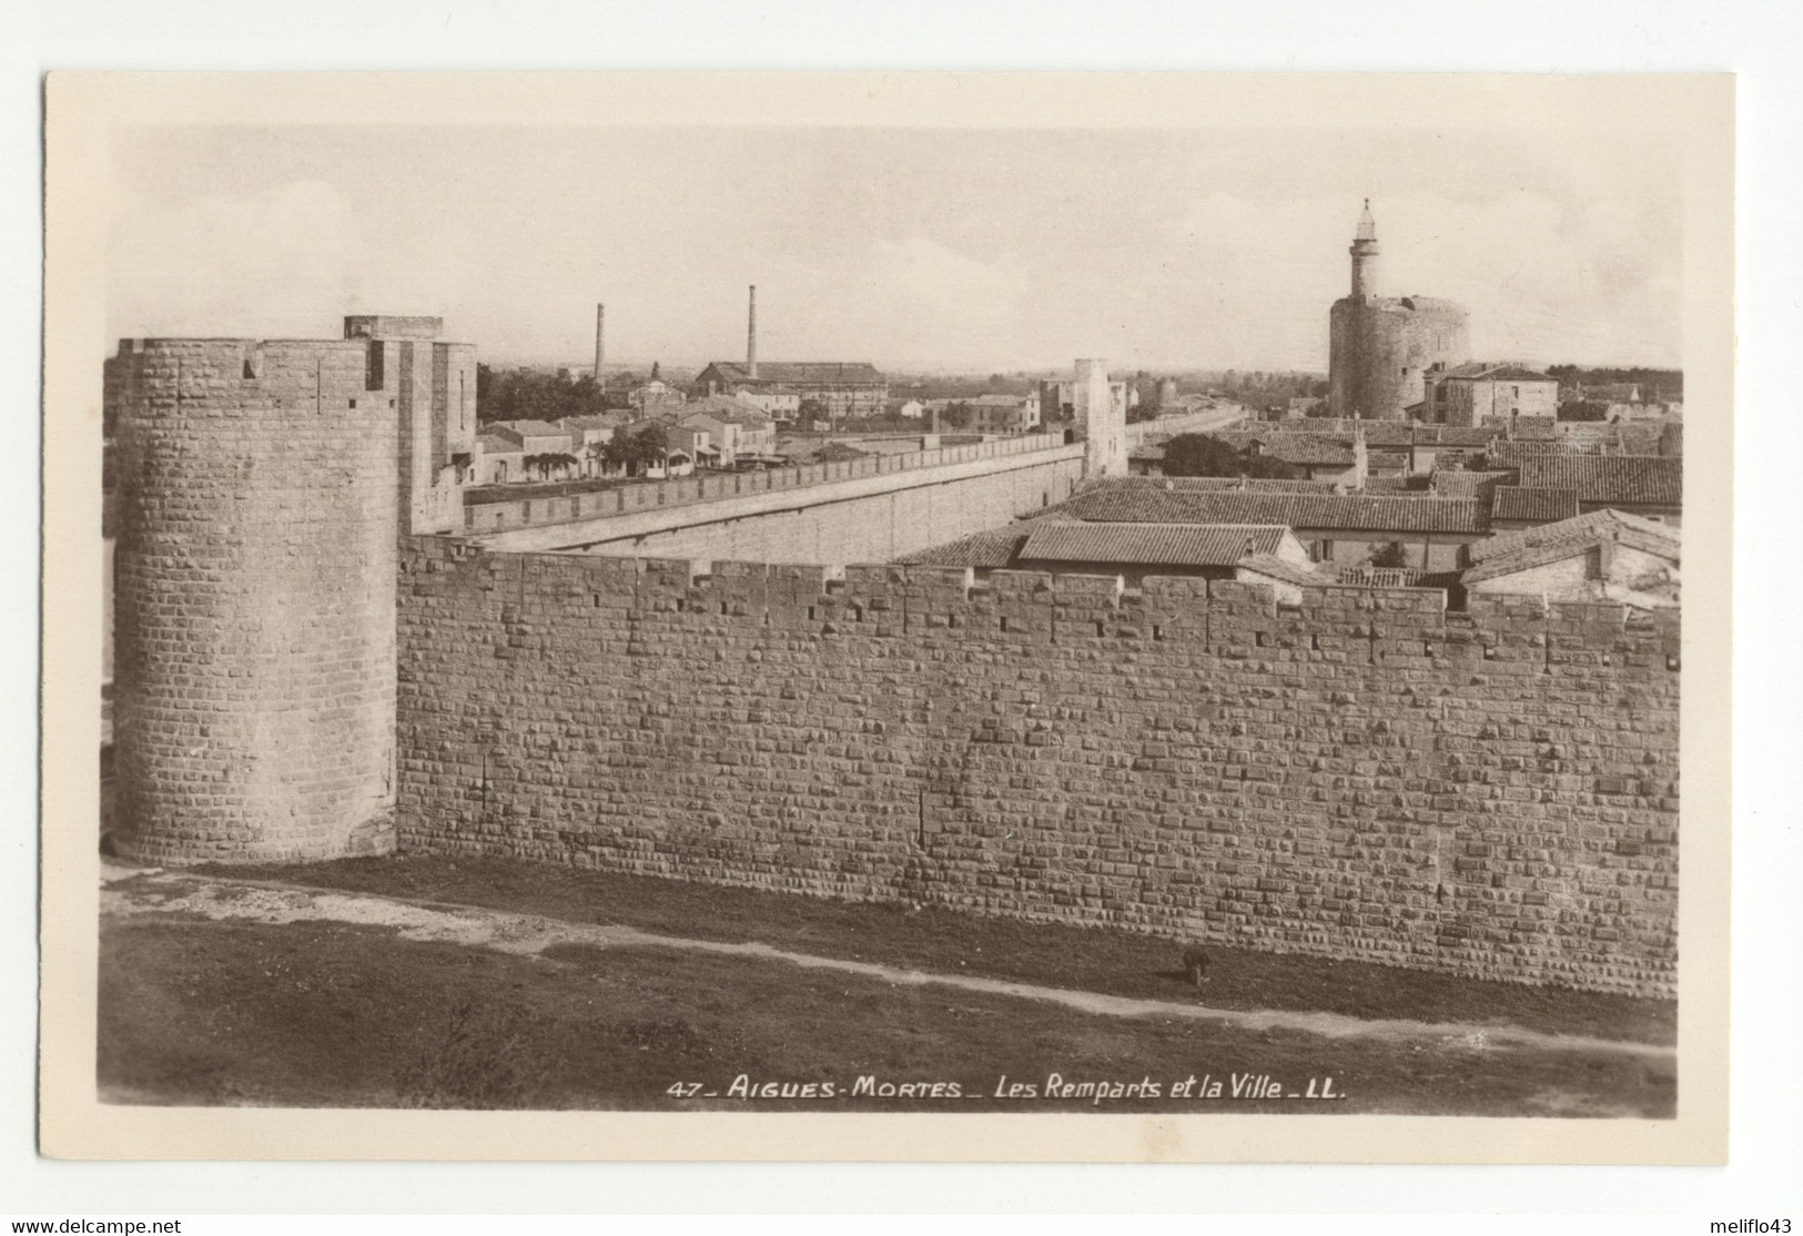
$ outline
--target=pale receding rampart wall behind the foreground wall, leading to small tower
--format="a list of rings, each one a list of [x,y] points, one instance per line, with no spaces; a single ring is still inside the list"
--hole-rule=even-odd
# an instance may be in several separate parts
[[[1064,501],[1084,477],[1082,445],[995,441],[923,454],[948,458],[930,467],[880,458],[815,465],[799,470],[802,485],[788,479],[797,468],[783,468],[507,503],[519,526],[499,519],[501,530],[480,539],[508,551],[867,562],[1006,524]],[[660,492],[674,501],[656,506]],[[476,510],[494,515],[492,504]]]

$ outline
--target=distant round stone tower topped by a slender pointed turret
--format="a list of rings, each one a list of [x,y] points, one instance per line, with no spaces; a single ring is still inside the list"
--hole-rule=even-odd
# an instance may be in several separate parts
[[[1424,375],[1435,364],[1451,368],[1468,359],[1466,310],[1426,295],[1381,295],[1368,200],[1349,252],[1350,295],[1329,312],[1329,405],[1334,416],[1403,420],[1426,398]]]

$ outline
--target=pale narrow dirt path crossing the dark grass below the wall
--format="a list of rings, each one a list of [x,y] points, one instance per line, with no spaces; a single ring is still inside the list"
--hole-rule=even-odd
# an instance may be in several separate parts
[[[1291,1013],[1277,1009],[1215,1009],[1204,1004],[1177,1004],[1172,1000],[1138,1000],[1094,991],[1040,987],[1004,978],[975,975],[927,973],[856,962],[837,957],[792,953],[768,944],[725,941],[696,941],[680,935],[658,935],[636,928],[568,922],[526,913],[507,913],[476,906],[447,906],[418,901],[379,897],[371,894],[323,892],[265,881],[234,881],[184,872],[106,867],[103,868],[101,913],[193,913],[206,919],[240,919],[251,922],[332,921],[361,926],[393,928],[402,939],[438,944],[487,948],[519,957],[541,955],[559,944],[590,948],[678,948],[701,953],[755,957],[786,962],[806,969],[831,969],[862,975],[894,986],[941,984],[963,991],[1017,996],[1058,1004],[1078,1013],[1118,1018],[1188,1018],[1222,1022],[1249,1031],[1302,1031],[1322,1038],[1368,1038],[1387,1041],[1433,1041],[1448,1047],[1531,1049],[1560,1052],[1606,1052],[1644,1059],[1675,1059],[1671,1047],[1632,1043],[1621,1040],[1579,1038],[1570,1034],[1543,1034],[1515,1027],[1464,1025],[1457,1022],[1410,1022],[1354,1018],[1340,1013]]]

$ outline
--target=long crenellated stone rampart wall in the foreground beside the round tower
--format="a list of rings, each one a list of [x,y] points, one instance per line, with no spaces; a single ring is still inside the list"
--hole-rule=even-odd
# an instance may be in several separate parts
[[[1670,996],[1677,618],[415,539],[398,840]]]

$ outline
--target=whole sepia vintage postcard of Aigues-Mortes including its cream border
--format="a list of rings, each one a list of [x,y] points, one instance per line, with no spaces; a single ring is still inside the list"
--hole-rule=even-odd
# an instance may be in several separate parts
[[[1733,97],[52,74],[43,1151],[1722,1162]]]

